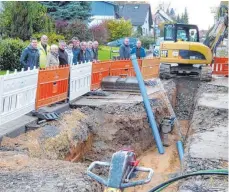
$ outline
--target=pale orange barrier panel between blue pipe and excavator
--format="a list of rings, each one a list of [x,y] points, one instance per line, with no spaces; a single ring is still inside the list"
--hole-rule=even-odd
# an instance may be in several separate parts
[[[160,59],[147,58],[142,60],[142,77],[144,80],[159,77]]]

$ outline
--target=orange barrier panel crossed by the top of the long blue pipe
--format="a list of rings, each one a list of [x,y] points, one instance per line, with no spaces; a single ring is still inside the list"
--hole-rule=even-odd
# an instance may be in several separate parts
[[[141,69],[141,60],[138,60]],[[131,60],[116,60],[111,63],[110,76],[136,76]]]

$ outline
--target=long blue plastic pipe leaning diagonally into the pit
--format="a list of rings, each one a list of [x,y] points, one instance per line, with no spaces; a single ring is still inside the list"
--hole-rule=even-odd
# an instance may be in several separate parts
[[[131,61],[132,61],[133,67],[134,67],[134,71],[136,73],[139,88],[140,88],[140,91],[142,94],[143,102],[145,105],[146,113],[148,115],[149,123],[150,123],[151,129],[152,129],[152,132],[153,132],[153,136],[154,136],[154,139],[156,141],[158,152],[160,154],[163,154],[164,153],[164,147],[162,145],[161,137],[160,137],[160,134],[159,134],[159,131],[157,128],[157,124],[156,124],[156,121],[155,121],[155,118],[153,115],[153,111],[152,111],[151,106],[150,106],[147,91],[145,88],[145,84],[144,84],[144,81],[142,78],[141,71],[140,71],[139,66],[138,66],[138,61],[137,61],[136,55],[131,55],[130,58],[131,58]]]

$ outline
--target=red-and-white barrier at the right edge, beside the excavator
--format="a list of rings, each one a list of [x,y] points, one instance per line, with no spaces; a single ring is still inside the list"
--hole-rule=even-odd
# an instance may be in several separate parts
[[[212,65],[212,74],[228,76],[227,57],[214,57],[214,64]]]

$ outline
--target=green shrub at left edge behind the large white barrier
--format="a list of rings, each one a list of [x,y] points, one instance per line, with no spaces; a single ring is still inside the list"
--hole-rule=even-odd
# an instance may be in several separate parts
[[[22,50],[28,46],[18,39],[4,39],[0,41],[0,69],[14,70],[21,69],[20,56]]]

